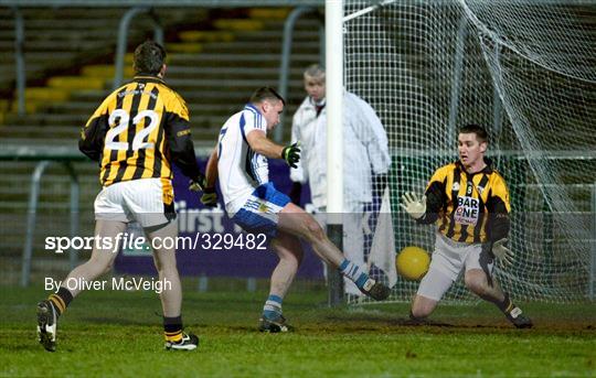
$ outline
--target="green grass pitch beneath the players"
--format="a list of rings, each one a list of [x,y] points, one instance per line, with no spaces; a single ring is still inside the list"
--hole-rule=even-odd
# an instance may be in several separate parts
[[[596,305],[524,303],[533,330],[488,304],[439,306],[407,325],[407,304],[327,309],[326,293],[290,293],[291,334],[256,331],[264,291],[187,289],[185,328],[201,345],[162,349],[152,292],[87,292],[61,318],[56,353],[35,339],[41,289],[0,288],[0,376],[596,376]]]

